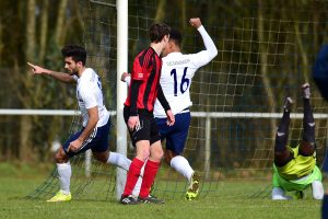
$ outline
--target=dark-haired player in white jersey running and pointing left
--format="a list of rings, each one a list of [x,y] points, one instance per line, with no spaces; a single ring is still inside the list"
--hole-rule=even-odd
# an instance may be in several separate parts
[[[65,83],[77,84],[77,99],[83,127],[72,135],[57,151],[55,160],[60,182],[60,191],[47,201],[71,200],[70,158],[91,149],[96,160],[128,170],[131,161],[125,155],[108,152],[109,113],[103,103],[102,83],[96,72],[85,67],[86,51],[83,47],[68,45],[61,49],[65,68],[69,73],[56,72],[28,64],[34,74],[45,74]]]

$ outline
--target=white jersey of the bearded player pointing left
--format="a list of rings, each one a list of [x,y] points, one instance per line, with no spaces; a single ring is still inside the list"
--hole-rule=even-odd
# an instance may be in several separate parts
[[[87,110],[94,106],[98,107],[99,117],[96,127],[106,125],[109,118],[109,113],[106,106],[104,105],[104,97],[99,77],[93,69],[86,68],[80,78],[74,78],[78,82],[77,99],[83,118],[83,127],[86,126],[89,120]]]

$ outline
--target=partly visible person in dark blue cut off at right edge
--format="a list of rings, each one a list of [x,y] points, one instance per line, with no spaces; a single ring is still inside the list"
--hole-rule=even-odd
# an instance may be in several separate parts
[[[313,69],[313,79],[315,80],[323,97],[328,101],[328,45],[321,46],[316,62]],[[324,160],[323,171],[328,172],[328,153]],[[328,218],[328,189],[326,189],[323,206],[321,206],[321,218]]]

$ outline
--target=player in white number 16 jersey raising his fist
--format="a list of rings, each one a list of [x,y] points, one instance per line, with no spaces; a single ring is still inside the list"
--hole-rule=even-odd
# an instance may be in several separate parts
[[[200,33],[206,50],[197,54],[181,54],[181,35],[178,31],[172,30],[169,41],[163,50],[163,66],[160,79],[164,95],[175,115],[175,124],[166,124],[166,114],[159,100],[155,102],[154,116],[161,134],[161,139],[166,139],[165,161],[177,172],[189,181],[186,199],[192,200],[198,196],[199,175],[195,173],[186,158],[181,155],[187,140],[190,125],[190,85],[195,72],[200,67],[210,62],[216,55],[215,44],[201,25],[199,18],[190,19],[190,24]],[[122,81],[129,83],[130,78],[122,74]]]

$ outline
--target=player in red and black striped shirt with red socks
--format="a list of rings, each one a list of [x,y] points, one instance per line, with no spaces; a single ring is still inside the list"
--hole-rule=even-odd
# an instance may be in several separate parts
[[[125,205],[138,203],[163,204],[162,200],[150,196],[149,192],[163,158],[161,138],[153,115],[156,97],[165,108],[166,123],[169,126],[174,124],[174,115],[160,85],[162,69],[160,55],[168,38],[169,27],[166,24],[153,24],[150,27],[150,47],[142,50],[133,61],[131,85],[125,102],[124,117],[132,145],[137,148],[137,155],[128,171],[125,191],[120,199],[120,203]],[[139,197],[136,199],[132,189],[143,164],[143,178]]]

